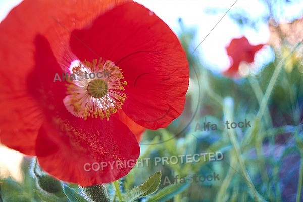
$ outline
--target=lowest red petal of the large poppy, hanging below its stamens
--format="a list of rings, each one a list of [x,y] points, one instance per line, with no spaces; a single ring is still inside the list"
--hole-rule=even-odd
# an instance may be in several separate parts
[[[133,133],[114,117],[110,121],[53,118],[39,131],[36,152],[41,167],[48,173],[91,186],[115,181],[132,169],[140,154],[139,145],[134,142]],[[121,168],[119,161],[126,164]],[[110,163],[103,166],[101,162]],[[85,169],[93,165],[95,171],[84,170],[85,164]]]

